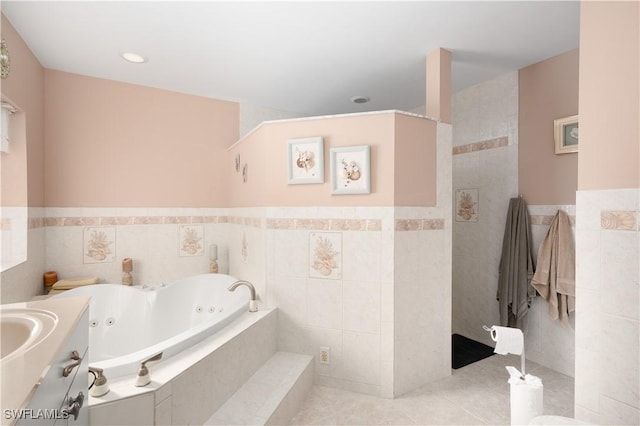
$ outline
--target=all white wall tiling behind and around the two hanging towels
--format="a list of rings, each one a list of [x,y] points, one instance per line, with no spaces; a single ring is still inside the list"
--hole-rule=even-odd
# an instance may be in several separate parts
[[[470,197],[473,215],[453,216],[453,331],[493,346],[483,325],[499,324],[496,291],[509,199],[518,196],[518,74],[510,73],[456,93],[453,97],[453,186]],[[529,206],[538,246],[558,209]],[[471,211],[471,210],[469,210]],[[551,321],[538,298],[529,311],[525,336],[528,359],[574,376],[574,328]]]

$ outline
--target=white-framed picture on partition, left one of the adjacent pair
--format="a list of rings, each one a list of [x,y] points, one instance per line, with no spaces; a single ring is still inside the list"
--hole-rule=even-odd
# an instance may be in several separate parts
[[[287,141],[289,185],[324,182],[324,144],[322,137]]]

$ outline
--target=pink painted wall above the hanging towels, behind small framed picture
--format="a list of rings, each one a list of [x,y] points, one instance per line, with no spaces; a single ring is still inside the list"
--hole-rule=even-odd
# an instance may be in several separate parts
[[[529,204],[576,202],[579,154],[555,154],[553,120],[578,114],[578,60],[575,49],[519,72],[518,187]]]

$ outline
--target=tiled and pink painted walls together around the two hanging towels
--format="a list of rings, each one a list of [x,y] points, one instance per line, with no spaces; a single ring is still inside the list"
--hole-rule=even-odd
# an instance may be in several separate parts
[[[482,326],[500,324],[496,292],[510,198],[528,204],[534,259],[558,210],[575,235],[578,154],[554,154],[553,118],[577,113],[577,56],[567,52],[453,95],[454,334],[495,345]],[[575,87],[556,86],[574,74]],[[575,318],[562,326],[548,309],[534,298],[523,330],[527,359],[573,377]]]

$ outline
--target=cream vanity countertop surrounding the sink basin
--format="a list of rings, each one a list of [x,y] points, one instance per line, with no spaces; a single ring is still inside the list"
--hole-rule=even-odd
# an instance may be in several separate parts
[[[51,333],[36,346],[27,348],[19,356],[0,361],[2,381],[2,424],[5,410],[20,410],[27,406],[43,380],[62,345],[78,325],[89,307],[89,297],[36,300],[0,305],[0,312],[15,309],[37,309],[54,313],[57,323]]]

